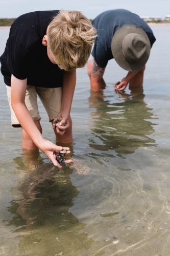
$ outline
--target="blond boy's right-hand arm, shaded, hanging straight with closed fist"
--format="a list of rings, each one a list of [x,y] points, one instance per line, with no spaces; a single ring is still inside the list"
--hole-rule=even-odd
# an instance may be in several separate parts
[[[66,123],[65,126],[58,125],[57,133],[63,135],[65,130],[69,127],[69,116],[71,111],[72,98],[74,96],[76,87],[76,70],[64,71],[63,74],[63,87],[62,87],[62,101],[61,109],[58,118],[62,118],[60,125]],[[57,118],[53,121],[53,129],[56,129],[54,123]]]

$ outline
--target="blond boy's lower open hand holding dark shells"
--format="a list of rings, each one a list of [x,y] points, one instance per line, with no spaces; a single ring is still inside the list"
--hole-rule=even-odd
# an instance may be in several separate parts
[[[53,144],[51,141],[45,140],[43,145],[39,147],[40,150],[52,161],[52,163],[61,168],[62,166],[57,162],[55,152],[58,153],[59,151],[66,150],[66,155],[70,153],[69,147],[62,147]],[[71,163],[72,160],[65,160],[66,163]]]

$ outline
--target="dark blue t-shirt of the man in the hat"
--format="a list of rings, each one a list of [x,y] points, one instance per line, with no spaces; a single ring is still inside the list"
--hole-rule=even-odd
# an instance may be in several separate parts
[[[109,10],[98,15],[92,22],[98,36],[95,38],[95,44],[92,50],[92,56],[101,68],[106,68],[108,60],[114,58],[111,51],[111,41],[114,33],[125,25],[136,25],[147,33],[151,47],[155,42],[155,36],[148,26],[138,15],[124,10]]]

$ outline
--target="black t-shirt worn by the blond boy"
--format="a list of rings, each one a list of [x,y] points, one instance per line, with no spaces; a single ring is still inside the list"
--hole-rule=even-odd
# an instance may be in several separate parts
[[[28,78],[30,86],[62,87],[63,70],[47,56],[42,38],[47,26],[59,11],[36,11],[19,16],[11,26],[5,52],[1,56],[1,72],[7,86],[11,74],[18,79]]]

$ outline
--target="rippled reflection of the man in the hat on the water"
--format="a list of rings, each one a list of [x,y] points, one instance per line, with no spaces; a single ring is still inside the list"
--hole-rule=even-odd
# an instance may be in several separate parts
[[[116,95],[118,100],[111,102],[102,94],[91,92],[89,108],[96,110],[91,112],[90,129],[95,137],[89,138],[89,146],[99,151],[114,150],[117,156],[123,157],[134,153],[138,147],[155,145],[155,140],[150,138],[155,125],[151,119],[155,117],[144,102],[143,89]]]

